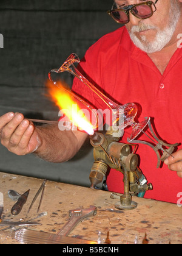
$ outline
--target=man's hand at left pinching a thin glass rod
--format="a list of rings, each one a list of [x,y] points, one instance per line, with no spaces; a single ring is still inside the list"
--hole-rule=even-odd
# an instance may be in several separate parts
[[[0,117],[0,139],[16,155],[32,153],[41,144],[35,127],[21,113],[10,112]]]

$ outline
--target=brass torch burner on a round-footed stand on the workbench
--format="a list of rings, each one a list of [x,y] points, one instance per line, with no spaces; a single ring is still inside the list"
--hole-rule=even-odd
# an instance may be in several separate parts
[[[90,136],[95,160],[89,176],[90,187],[95,188],[98,183],[102,182],[109,167],[122,172],[124,194],[115,207],[120,210],[131,210],[137,206],[136,202],[132,201],[132,196],[152,190],[152,184],[147,183],[145,176],[138,169],[138,156],[131,151],[133,145],[118,143],[120,132],[120,129],[110,127],[106,135],[95,132]]]

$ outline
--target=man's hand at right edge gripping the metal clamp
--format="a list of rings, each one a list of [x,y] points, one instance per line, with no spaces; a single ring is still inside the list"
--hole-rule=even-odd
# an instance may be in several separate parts
[[[177,171],[179,177],[182,178],[182,149],[172,153],[174,157],[168,157],[164,163],[168,165],[171,171]]]

